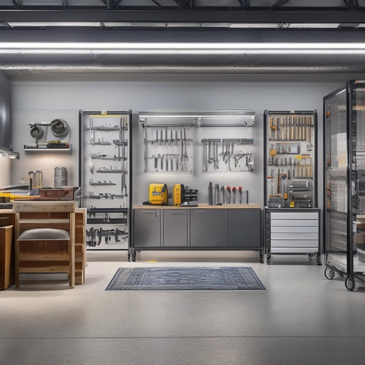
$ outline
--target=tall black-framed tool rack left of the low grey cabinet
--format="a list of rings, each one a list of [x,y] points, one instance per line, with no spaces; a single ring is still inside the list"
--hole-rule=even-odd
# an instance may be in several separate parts
[[[86,248],[128,250],[131,227],[131,110],[79,111],[79,186]]]

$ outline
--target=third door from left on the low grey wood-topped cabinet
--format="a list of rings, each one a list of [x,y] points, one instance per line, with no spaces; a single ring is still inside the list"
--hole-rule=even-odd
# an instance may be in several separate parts
[[[190,247],[228,247],[228,210],[190,210]]]

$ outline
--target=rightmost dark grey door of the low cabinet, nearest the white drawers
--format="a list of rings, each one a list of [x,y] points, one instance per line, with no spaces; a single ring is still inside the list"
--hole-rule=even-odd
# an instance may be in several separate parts
[[[260,209],[229,210],[229,247],[261,247]]]

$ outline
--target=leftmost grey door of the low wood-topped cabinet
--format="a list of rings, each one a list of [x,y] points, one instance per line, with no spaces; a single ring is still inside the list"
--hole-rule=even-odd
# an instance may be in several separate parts
[[[134,210],[134,247],[161,246],[160,209]]]

